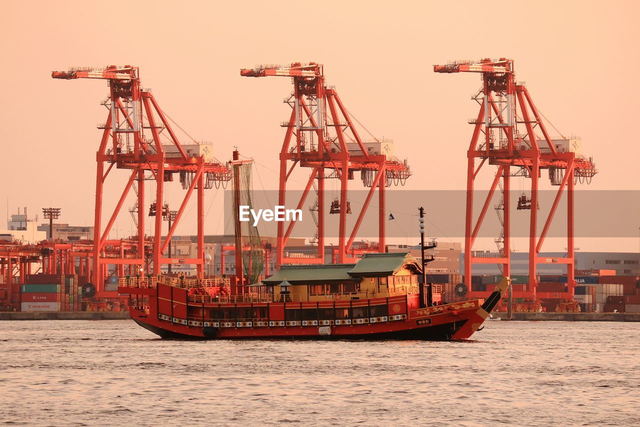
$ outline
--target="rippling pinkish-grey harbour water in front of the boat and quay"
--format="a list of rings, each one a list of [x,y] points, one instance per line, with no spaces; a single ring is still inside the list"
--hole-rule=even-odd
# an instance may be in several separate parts
[[[640,324],[490,322],[470,342],[177,341],[0,322],[0,423],[640,424]]]

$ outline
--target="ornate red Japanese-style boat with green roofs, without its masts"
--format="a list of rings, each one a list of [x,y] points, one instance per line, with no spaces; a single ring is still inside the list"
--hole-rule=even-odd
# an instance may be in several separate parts
[[[449,340],[471,337],[509,283],[484,301],[446,303],[421,277],[410,254],[380,253],[356,264],[283,265],[244,293],[222,276],[125,278],[118,292],[129,295],[131,318],[163,338]]]

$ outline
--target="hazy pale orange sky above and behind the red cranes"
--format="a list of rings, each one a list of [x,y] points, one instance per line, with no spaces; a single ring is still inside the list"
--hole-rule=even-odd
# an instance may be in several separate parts
[[[28,206],[35,215],[53,205],[63,209],[63,222],[92,224],[95,124],[104,122],[99,102],[106,83],[52,80],[50,73],[112,63],[141,67],[143,86],[153,89],[163,110],[193,137],[212,140],[221,160],[234,146],[255,158],[267,188],[277,188],[270,169],[278,165],[278,124],[289,114],[281,101],[291,83],[241,78],[239,69],[324,63],[328,84],[349,111],[376,136],[393,138],[397,155],[409,158],[415,173],[406,188],[462,189],[472,130],[467,119],[477,112],[470,96],[479,76],[434,74],[432,65],[508,56],[541,112],[563,133],[582,137],[583,151],[600,169],[591,188],[640,190],[640,146],[632,129],[639,115],[640,3],[514,1],[505,3],[508,12],[481,2],[376,3],[5,4],[0,217],[8,196],[10,213]],[[106,205],[120,189],[108,188]],[[177,200],[181,191],[168,197]],[[207,194],[207,206],[211,198]],[[216,203],[208,233],[223,228]],[[612,210],[612,221],[615,215]],[[193,233],[194,224],[185,222],[178,232]],[[126,210],[118,228],[129,233]],[[637,228],[629,235],[577,246],[637,251]],[[495,247],[487,242],[476,249]]]

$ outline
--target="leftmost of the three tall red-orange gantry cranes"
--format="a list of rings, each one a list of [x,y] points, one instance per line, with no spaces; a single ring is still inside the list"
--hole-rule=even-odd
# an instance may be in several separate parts
[[[175,213],[175,219],[162,239],[163,215],[156,215],[152,256],[153,273],[160,273],[161,264],[196,264],[198,278],[202,278],[204,265],[204,190],[216,181],[229,181],[231,170],[218,162],[208,144],[197,144],[186,150],[169,124],[166,114],[159,107],[151,91],[141,87],[138,67],[109,65],[104,69],[76,68],[69,71],[54,71],[54,79],[99,79],[107,80],[109,96],[102,105],[109,110],[102,129],[102,139],[97,151],[97,176],[95,186],[95,231],[93,239],[93,282],[98,291],[104,287],[109,264],[145,266],[145,181],[156,182],[156,212],[162,212],[164,183],[173,181],[179,175],[186,195]],[[164,137],[166,142],[161,141]],[[190,151],[190,153],[188,153]],[[106,171],[105,171],[106,166]],[[113,167],[131,171],[129,180],[122,191],[109,221],[102,228],[102,191],[104,182]],[[112,258],[103,256],[108,244],[108,234],[113,227],[120,208],[137,180],[138,189],[138,248],[134,257]],[[193,259],[164,258],[163,253],[172,235],[180,224],[180,219],[193,191],[197,192],[196,217],[198,221],[198,256]],[[147,268],[147,274],[149,273]]]

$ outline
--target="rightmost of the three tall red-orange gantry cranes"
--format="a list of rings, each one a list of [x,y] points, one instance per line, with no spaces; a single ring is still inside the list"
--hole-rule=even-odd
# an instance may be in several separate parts
[[[509,178],[524,176],[531,178],[531,199],[526,196],[518,200],[518,209],[530,210],[529,229],[529,292],[535,294],[536,264],[559,263],[567,265],[569,292],[573,295],[574,246],[573,246],[573,186],[586,181],[598,172],[591,158],[580,155],[576,149],[580,144],[576,138],[552,138],[541,114],[534,105],[531,94],[524,83],[516,82],[513,60],[483,59],[478,62],[449,62],[447,65],[435,65],[435,72],[476,72],[482,76],[482,87],[473,99],[480,105],[477,118],[470,120],[474,132],[467,151],[467,214],[465,221],[465,284],[471,289],[472,265],[474,263],[502,264],[504,276],[511,274],[510,257],[510,217],[509,217]],[[521,125],[521,126],[518,126]],[[524,125],[524,130],[522,130]],[[536,134],[536,131],[541,134]],[[481,137],[481,134],[484,137]],[[476,168],[476,158],[480,159]],[[475,226],[473,225],[474,181],[484,163],[497,166],[497,172],[486,197]],[[511,173],[511,167],[516,171]],[[537,237],[538,219],[538,180],[540,170],[548,169],[551,185],[558,186],[556,199],[548,212],[547,221]],[[490,206],[493,193],[502,178],[504,198],[502,208],[503,240],[500,258],[479,258],[472,256],[472,246],[476,240],[484,215]],[[567,188],[567,247],[566,258],[543,258],[538,256],[547,231],[556,212],[556,208]]]

